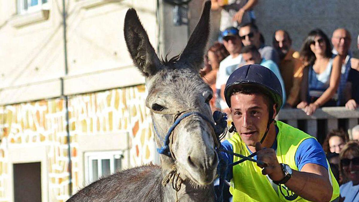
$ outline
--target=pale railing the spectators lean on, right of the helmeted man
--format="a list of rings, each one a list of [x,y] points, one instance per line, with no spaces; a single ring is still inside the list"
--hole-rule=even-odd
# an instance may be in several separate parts
[[[299,128],[322,142],[327,133],[333,129],[348,130],[358,125],[358,118],[359,110],[348,110],[345,107],[323,107],[317,109],[311,116],[300,109],[281,109],[276,120]]]

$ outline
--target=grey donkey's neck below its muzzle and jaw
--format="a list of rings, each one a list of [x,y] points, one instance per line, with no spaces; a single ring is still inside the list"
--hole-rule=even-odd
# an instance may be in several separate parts
[[[163,165],[165,164],[165,165]],[[162,162],[162,179],[171,171],[173,164],[167,164]],[[192,183],[192,184],[191,184]],[[181,184],[181,189],[176,192],[172,187],[172,180],[163,187],[163,199],[168,202],[176,202],[177,199],[181,201],[214,201],[214,186],[213,183],[206,187],[194,186],[193,182],[189,179],[185,179]]]

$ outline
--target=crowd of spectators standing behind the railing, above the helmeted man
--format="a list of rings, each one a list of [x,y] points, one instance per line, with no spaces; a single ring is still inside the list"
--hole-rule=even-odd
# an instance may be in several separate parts
[[[248,1],[249,2],[249,1]],[[303,109],[312,115],[319,107],[359,105],[359,50],[350,50],[351,35],[338,28],[331,39],[313,29],[304,38],[300,51],[292,48],[286,30],[273,33],[272,46],[253,23],[231,26],[221,32],[222,41],[208,50],[201,75],[213,88],[213,110],[230,110],[223,98],[229,75],[245,64],[261,64],[272,70],[282,84],[283,107]],[[359,49],[359,36],[358,36]],[[208,62],[207,62],[208,60]]]

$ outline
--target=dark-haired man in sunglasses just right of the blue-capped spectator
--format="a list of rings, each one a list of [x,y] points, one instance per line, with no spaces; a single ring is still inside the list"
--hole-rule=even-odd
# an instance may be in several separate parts
[[[258,27],[253,23],[248,23],[239,28],[239,36],[241,37],[244,46],[254,45],[261,57],[265,60],[272,60],[277,65],[279,64],[279,57],[277,52],[271,46],[266,46],[261,40],[261,33]]]

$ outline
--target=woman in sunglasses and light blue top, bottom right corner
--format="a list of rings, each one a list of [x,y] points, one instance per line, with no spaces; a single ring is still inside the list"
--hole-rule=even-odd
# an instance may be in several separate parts
[[[341,201],[359,201],[359,142],[346,143],[339,158],[340,170],[349,180],[340,186]]]

